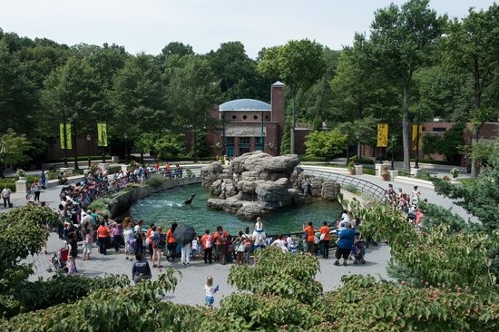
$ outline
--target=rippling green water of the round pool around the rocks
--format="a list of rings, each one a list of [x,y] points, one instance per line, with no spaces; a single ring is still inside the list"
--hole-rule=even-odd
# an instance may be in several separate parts
[[[191,205],[181,205],[191,194],[196,194]],[[204,229],[214,231],[218,225],[227,229],[230,234],[249,227],[252,232],[255,220],[242,220],[233,214],[220,210],[210,210],[206,201],[210,191],[200,185],[177,187],[161,191],[142,200],[137,200],[130,208],[133,220],[144,220],[146,225],[170,226],[171,222],[191,224],[201,234]],[[322,221],[337,220],[341,214],[338,202],[318,200],[312,204],[300,205],[275,211],[262,217],[264,229],[268,234],[291,233],[301,231],[304,222],[312,221],[319,228]]]

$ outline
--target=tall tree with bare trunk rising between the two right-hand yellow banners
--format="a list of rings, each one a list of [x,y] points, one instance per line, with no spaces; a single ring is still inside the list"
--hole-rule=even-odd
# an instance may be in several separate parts
[[[403,91],[402,141],[404,168],[409,169],[409,89],[414,73],[430,59],[437,38],[443,33],[445,17],[437,17],[428,0],[409,0],[401,7],[377,10],[371,24],[377,67]]]

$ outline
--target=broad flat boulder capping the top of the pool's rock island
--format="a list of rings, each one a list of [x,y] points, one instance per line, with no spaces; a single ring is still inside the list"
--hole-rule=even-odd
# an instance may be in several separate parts
[[[253,151],[244,153],[231,161],[230,169],[232,172],[238,174],[241,174],[244,171],[255,171],[259,179],[261,179],[259,174],[266,172],[268,174],[263,175],[263,178],[268,177],[270,180],[272,180],[271,173],[277,173],[274,175],[274,178],[277,180],[277,177],[280,177],[282,174],[289,178],[295,169],[295,166],[298,164],[299,159],[297,154],[286,154],[273,157],[262,151]]]

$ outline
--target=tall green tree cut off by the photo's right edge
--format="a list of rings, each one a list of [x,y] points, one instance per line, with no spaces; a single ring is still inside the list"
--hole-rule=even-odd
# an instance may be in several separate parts
[[[499,73],[498,24],[499,5],[494,3],[487,11],[480,12],[470,9],[462,22],[455,19],[450,24],[444,40],[445,62],[455,71],[464,71],[473,77],[473,112],[469,118],[474,123],[472,145],[478,142],[484,122],[496,119],[497,94],[487,92],[494,86]],[[475,161],[471,167],[475,177]]]

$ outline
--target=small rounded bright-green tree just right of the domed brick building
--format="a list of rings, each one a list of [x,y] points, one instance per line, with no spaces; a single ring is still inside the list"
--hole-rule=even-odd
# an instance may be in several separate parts
[[[307,135],[305,145],[307,146],[308,156],[322,157],[325,161],[329,161],[345,151],[347,135],[338,130],[310,132]]]

